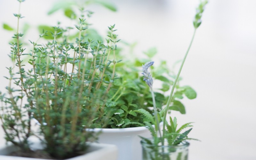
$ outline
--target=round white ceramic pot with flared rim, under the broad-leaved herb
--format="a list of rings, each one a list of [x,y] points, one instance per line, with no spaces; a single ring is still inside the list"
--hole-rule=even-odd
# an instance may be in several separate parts
[[[161,123],[161,125],[163,125]],[[114,144],[118,148],[118,160],[141,160],[142,148],[140,145],[141,137],[151,137],[146,127],[120,128],[120,129],[99,129],[99,143]]]

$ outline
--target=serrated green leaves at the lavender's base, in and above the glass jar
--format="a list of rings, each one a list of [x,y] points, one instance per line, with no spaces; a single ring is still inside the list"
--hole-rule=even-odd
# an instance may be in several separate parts
[[[145,125],[152,135],[152,138],[141,137],[142,146],[143,148],[146,148],[146,150],[143,151],[143,157],[146,159],[149,158],[152,160],[171,160],[175,158],[175,160],[178,160],[186,155],[182,155],[182,151],[177,148],[179,146],[186,145],[186,140],[197,140],[193,138],[188,138],[188,133],[192,130],[192,128],[189,128],[192,127],[191,123],[183,124],[181,127],[178,128],[176,117],[174,117],[173,119],[169,117],[169,124],[166,125],[166,134],[163,137],[157,136],[156,128],[153,125],[150,125],[150,123],[145,122]],[[186,128],[189,129],[183,131]],[[162,145],[162,141],[164,141],[164,147]],[[178,154],[177,156],[170,156],[170,153],[176,151]]]

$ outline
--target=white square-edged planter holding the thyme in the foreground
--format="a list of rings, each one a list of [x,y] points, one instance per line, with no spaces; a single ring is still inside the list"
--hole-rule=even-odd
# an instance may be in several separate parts
[[[39,141],[33,143],[32,149],[41,149],[42,145]],[[0,160],[42,160],[39,158],[26,158],[17,156],[6,156],[17,150],[13,145],[0,148]],[[116,160],[117,147],[111,144],[91,143],[84,155],[68,158],[67,160]]]

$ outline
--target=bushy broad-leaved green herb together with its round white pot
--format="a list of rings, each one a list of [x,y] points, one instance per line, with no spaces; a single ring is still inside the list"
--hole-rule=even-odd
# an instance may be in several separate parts
[[[151,53],[151,57],[149,57]],[[112,102],[110,109],[113,108],[113,112],[109,117],[109,125],[102,129],[94,129],[96,132],[101,131],[99,135],[99,142],[115,144],[118,146],[119,159],[136,159],[142,156],[142,149],[137,146],[140,145],[140,137],[151,137],[151,133],[143,125],[144,121],[150,120],[146,115],[137,112],[138,109],[145,109],[150,115],[153,114],[153,101],[152,95],[149,92],[147,84],[140,76],[140,67],[144,61],[151,60],[156,50],[154,48],[145,52],[146,57],[142,59],[123,60],[117,65],[117,74],[120,75],[115,80],[112,90]],[[124,58],[125,59],[125,58]],[[134,67],[131,67],[134,66]],[[169,91],[169,86],[173,84],[174,74],[166,66],[166,61],[161,61],[159,66],[153,68],[154,78],[162,83],[162,86],[154,92],[157,95],[156,104],[157,110],[160,111],[164,103],[167,102],[166,92]],[[163,76],[163,72],[168,72]],[[180,81],[180,79],[179,79]],[[111,93],[112,93],[111,92]],[[175,90],[175,96],[182,99],[183,96],[187,96],[189,99],[196,98],[196,92],[189,86],[177,85]],[[118,109],[121,111],[118,113]],[[185,107],[180,100],[172,100],[170,109],[180,111],[185,114]],[[118,113],[118,114],[115,114]],[[123,124],[119,125],[118,122]],[[126,156],[124,156],[126,155]]]

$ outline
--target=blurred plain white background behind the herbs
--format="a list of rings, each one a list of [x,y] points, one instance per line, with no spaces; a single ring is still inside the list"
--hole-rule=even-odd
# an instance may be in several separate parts
[[[35,41],[38,24],[56,25],[69,20],[62,11],[47,16],[56,0],[26,0],[21,6]],[[198,0],[111,0],[118,11],[98,5],[90,19],[101,35],[116,24],[119,38],[137,42],[136,55],[157,47],[159,59],[169,66],[183,58],[193,34]],[[196,122],[190,137],[190,160],[255,160],[256,150],[256,1],[212,0],[207,4],[194,43],[181,72],[182,84],[197,92],[195,100],[183,100],[186,115],[172,112],[179,124]],[[15,28],[17,1],[0,0],[0,23]],[[34,29],[33,29],[34,27]],[[0,90],[11,61],[7,56],[12,32],[0,29]],[[32,39],[32,38],[34,39]],[[0,144],[4,145],[0,129]],[[140,147],[140,146],[138,146]]]

